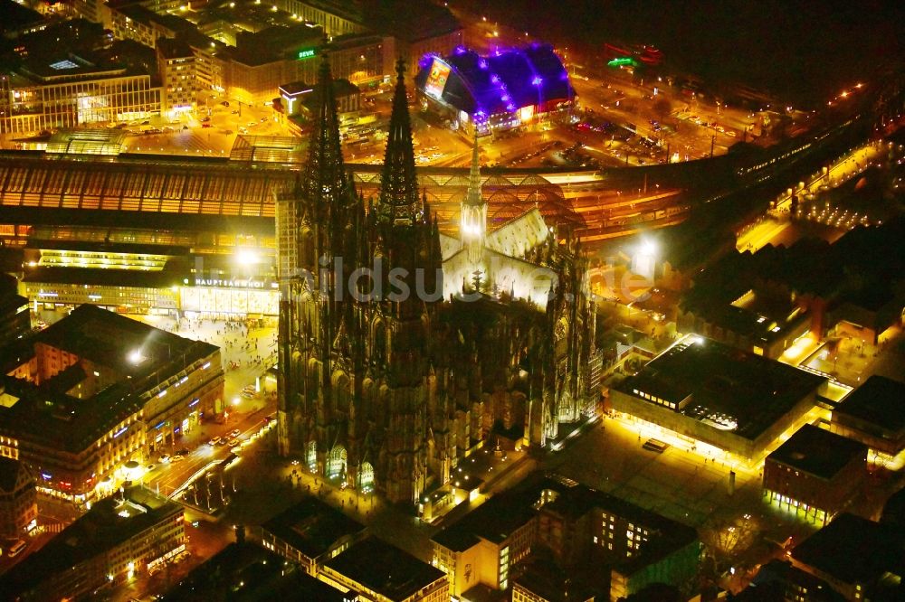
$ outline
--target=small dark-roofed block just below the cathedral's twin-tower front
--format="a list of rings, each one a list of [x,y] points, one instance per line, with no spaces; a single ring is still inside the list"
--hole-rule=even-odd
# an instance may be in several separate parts
[[[361,540],[365,525],[316,497],[308,497],[264,522],[259,531],[267,550],[317,577],[324,562]]]

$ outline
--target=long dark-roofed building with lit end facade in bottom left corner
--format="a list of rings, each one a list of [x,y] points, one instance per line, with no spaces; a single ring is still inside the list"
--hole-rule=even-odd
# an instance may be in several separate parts
[[[183,509],[142,487],[91,506],[41,550],[0,577],[10,600],[90,597],[186,549]]]

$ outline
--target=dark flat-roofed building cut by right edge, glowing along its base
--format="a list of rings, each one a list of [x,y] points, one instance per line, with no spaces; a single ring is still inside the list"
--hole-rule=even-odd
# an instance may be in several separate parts
[[[905,464],[905,382],[872,375],[833,409],[828,428],[869,447],[873,464],[899,469]]]

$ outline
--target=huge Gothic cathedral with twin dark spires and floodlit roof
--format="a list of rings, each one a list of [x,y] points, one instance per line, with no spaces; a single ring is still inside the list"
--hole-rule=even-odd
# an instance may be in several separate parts
[[[307,164],[277,201],[278,439],[335,484],[417,504],[476,448],[543,447],[593,414],[600,353],[577,242],[537,210],[488,231],[477,141],[459,236],[440,233],[397,73],[366,201],[320,67]]]

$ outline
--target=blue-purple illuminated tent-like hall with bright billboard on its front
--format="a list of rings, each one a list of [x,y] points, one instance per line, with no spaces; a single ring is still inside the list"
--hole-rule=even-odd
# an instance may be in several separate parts
[[[477,121],[528,106],[545,111],[575,98],[566,68],[549,44],[531,44],[486,57],[460,46],[445,58],[425,54],[420,67],[415,77],[418,89]],[[438,70],[449,71],[445,81],[441,80],[439,98],[440,86],[430,85],[432,71]]]

